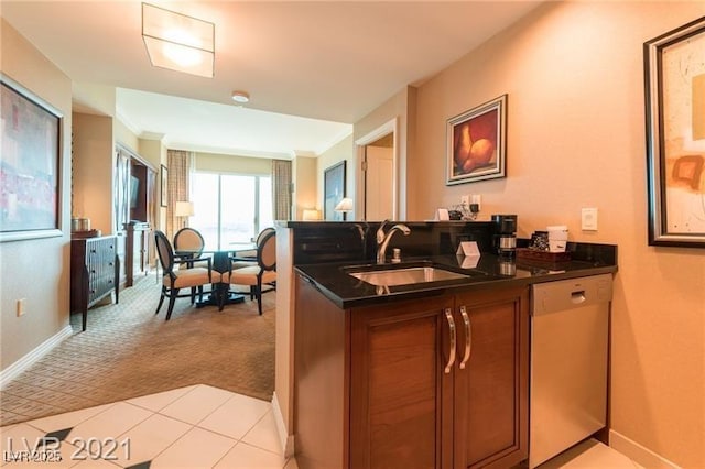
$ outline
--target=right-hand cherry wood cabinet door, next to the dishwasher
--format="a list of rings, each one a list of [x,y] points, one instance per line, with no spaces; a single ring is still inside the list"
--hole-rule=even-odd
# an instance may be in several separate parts
[[[455,467],[514,466],[528,457],[528,288],[459,295],[455,314]]]

